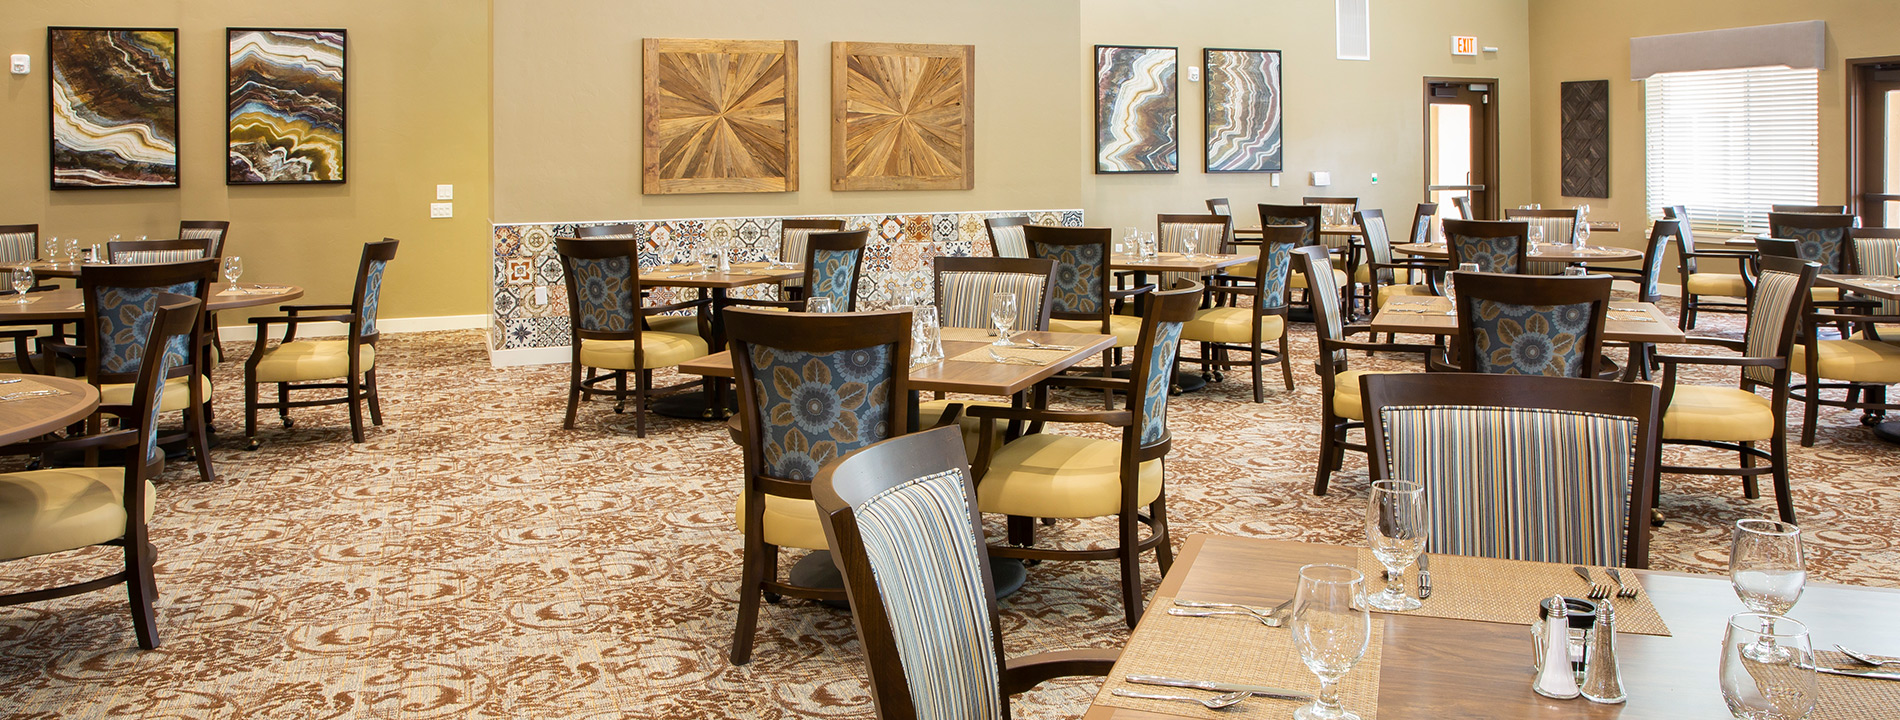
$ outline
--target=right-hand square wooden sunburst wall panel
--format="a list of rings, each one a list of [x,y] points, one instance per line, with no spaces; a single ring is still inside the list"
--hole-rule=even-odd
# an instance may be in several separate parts
[[[977,46],[832,44],[832,190],[977,186]]]

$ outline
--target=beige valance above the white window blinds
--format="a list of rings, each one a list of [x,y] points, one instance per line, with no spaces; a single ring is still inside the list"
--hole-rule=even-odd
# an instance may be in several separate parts
[[[1630,80],[1657,72],[1759,66],[1826,70],[1828,23],[1803,21],[1630,38]]]

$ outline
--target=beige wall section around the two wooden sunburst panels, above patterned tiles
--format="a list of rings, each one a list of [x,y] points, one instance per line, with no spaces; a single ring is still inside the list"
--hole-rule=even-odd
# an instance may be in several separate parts
[[[1079,207],[1077,4],[496,0],[494,220]],[[798,192],[642,196],[640,38],[798,40]],[[830,42],[977,46],[977,186],[830,190]]]

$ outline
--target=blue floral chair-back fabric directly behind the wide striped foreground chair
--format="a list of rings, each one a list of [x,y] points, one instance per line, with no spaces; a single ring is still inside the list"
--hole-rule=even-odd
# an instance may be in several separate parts
[[[1585,378],[1590,359],[1583,357],[1590,332],[1590,304],[1522,306],[1472,298],[1469,332],[1476,357],[1471,372],[1543,374]]]

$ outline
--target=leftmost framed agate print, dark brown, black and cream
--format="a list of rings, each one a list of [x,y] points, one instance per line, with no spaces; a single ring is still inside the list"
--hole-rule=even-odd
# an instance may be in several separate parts
[[[179,30],[46,28],[53,190],[179,186]]]

